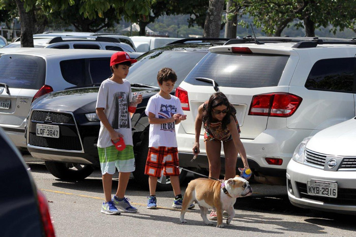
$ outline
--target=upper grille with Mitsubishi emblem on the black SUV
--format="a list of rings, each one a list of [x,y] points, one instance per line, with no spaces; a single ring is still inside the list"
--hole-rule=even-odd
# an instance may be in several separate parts
[[[50,120],[48,120],[50,118]],[[46,120],[47,119],[47,120]],[[74,119],[70,113],[58,113],[35,110],[31,116],[32,121],[45,122],[52,121],[52,123],[58,124],[74,124]]]

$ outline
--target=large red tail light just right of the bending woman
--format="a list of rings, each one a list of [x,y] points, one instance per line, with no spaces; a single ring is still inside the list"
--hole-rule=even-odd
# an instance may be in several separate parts
[[[249,115],[289,117],[299,107],[302,98],[289,93],[270,93],[252,98]]]

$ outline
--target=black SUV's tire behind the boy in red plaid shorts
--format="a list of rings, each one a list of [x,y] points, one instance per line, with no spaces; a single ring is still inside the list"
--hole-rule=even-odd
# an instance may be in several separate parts
[[[149,175],[144,174],[144,168],[146,166],[147,154],[149,153],[149,134],[147,133],[144,136],[141,145],[138,149],[138,153],[136,155],[135,164],[136,168],[133,172],[136,182],[142,186],[144,189],[149,189]],[[181,174],[179,176],[179,181],[182,183],[187,176],[187,171],[181,170]],[[157,182],[157,191],[171,191],[172,185],[170,184],[169,176],[161,176],[158,178]]]

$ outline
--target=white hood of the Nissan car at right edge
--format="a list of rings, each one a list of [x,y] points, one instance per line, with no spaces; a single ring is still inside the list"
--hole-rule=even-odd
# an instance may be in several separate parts
[[[306,148],[325,155],[356,156],[356,120],[321,130],[309,140]]]

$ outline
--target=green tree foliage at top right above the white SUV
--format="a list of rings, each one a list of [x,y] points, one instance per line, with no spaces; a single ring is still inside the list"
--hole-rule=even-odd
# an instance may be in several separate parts
[[[280,35],[284,28],[304,28],[304,19],[310,17],[315,28],[333,25],[331,31],[351,27],[355,18],[355,1],[344,0],[235,0],[244,6],[244,13],[253,17],[257,27],[267,35]],[[295,21],[296,20],[296,21]],[[241,22],[247,25],[246,22]]]

